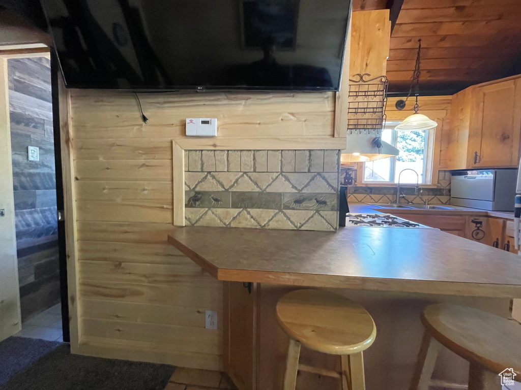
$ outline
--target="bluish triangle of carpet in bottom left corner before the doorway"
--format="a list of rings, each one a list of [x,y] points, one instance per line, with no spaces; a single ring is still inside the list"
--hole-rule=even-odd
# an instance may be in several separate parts
[[[17,372],[26,369],[61,343],[26,337],[8,337],[0,343],[0,388]]]

